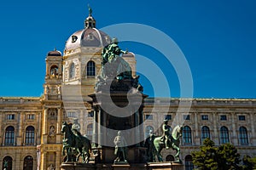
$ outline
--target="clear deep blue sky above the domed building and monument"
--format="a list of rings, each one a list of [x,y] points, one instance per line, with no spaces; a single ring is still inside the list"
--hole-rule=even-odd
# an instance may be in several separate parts
[[[193,97],[256,97],[254,0],[3,1],[0,5],[0,96],[38,97],[43,93],[46,54],[54,48],[63,52],[67,38],[84,28],[88,3],[98,29],[138,23],[171,37],[189,64]],[[165,59],[160,49],[138,42],[120,42],[120,47],[147,57],[166,77],[168,88],[154,87],[154,81],[161,80],[154,80],[157,76],[143,77],[142,72],[145,94],[187,97],[180,94],[175,65]],[[137,62],[146,68],[140,59]],[[152,70],[148,68],[148,72]],[[157,88],[158,93],[154,93],[153,88]]]

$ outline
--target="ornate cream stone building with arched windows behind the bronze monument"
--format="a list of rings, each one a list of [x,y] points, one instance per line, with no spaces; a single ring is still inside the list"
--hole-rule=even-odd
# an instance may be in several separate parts
[[[94,112],[89,94],[94,93],[101,72],[102,48],[110,37],[96,29],[91,13],[84,29],[67,42],[63,55],[50,51],[46,56],[44,94],[36,98],[0,98],[0,169],[60,169],[63,161],[61,122],[76,124],[82,134],[93,135]],[[132,53],[123,58],[136,76]],[[43,77],[42,77],[43,78]],[[189,112],[177,112],[182,100],[191,103]],[[144,104],[144,133],[150,129],[161,135],[160,125],[169,119],[183,122],[181,159],[191,169],[191,151],[198,150],[203,139],[215,144],[231,143],[244,156],[256,156],[256,99],[160,99],[148,98]],[[172,150],[163,150],[166,161]]]

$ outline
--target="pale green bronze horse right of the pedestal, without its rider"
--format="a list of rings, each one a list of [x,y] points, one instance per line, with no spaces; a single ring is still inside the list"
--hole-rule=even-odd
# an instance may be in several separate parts
[[[179,143],[180,140],[179,138],[182,136],[183,133],[183,127],[180,125],[177,125],[176,127],[173,128],[172,130],[172,135],[169,135],[169,139],[168,139],[168,146],[169,148],[172,148],[173,150],[177,151],[177,154],[174,156],[175,157],[175,161],[180,162],[181,160],[179,159],[179,153],[180,153],[180,149],[179,149]],[[160,139],[162,137],[156,137],[154,139],[154,156],[156,155],[158,158],[158,161],[163,161],[163,158],[160,154],[160,151],[163,148],[166,148],[166,144],[161,143]]]

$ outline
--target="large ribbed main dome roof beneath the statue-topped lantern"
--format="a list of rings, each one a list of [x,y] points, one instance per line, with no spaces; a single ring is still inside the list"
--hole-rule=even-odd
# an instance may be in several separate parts
[[[85,28],[76,31],[67,39],[65,50],[80,47],[102,48],[111,42],[111,38],[96,28]]]

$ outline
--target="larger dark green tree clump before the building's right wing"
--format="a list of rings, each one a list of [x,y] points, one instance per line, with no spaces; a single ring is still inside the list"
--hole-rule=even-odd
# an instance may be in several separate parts
[[[242,169],[239,165],[240,155],[232,144],[215,146],[211,139],[205,139],[199,151],[192,152],[195,169],[198,170],[232,170]]]

